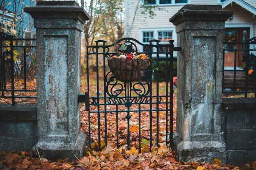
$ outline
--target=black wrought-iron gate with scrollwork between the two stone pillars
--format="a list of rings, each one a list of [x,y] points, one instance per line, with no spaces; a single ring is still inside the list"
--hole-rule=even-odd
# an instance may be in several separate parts
[[[112,45],[106,45],[106,41],[98,40],[96,45],[87,46],[87,92],[84,101],[88,111],[89,145],[98,141],[98,148],[104,143],[108,145],[108,130],[115,123],[114,143],[119,148],[119,137],[127,135],[127,148],[131,148],[131,142],[137,144],[139,152],[142,148],[142,121],[148,121],[149,135],[143,136],[149,139],[150,150],[160,142],[166,145],[172,141],[173,134],[173,55],[174,51],[180,51],[180,47],[174,47],[174,40],[168,44],[159,44],[158,40],[151,40],[148,44],[142,44],[133,38],[122,38]],[[138,82],[123,83],[118,81],[107,66],[107,57],[117,53],[120,44],[125,44],[127,50],[135,51],[137,54],[145,53],[152,60],[151,65]],[[130,52],[129,51],[129,52]],[[161,65],[160,65],[161,63]],[[165,65],[164,72],[160,67]],[[96,74],[95,74],[96,72]],[[160,82],[161,80],[161,82]],[[97,115],[94,120],[92,116]],[[119,118],[125,114],[125,118]],[[141,120],[141,115],[149,116],[148,120]],[[159,115],[162,116],[159,116]],[[133,121],[133,115],[138,120]],[[163,116],[164,115],[164,116]],[[109,117],[115,116],[115,122],[109,122]],[[164,117],[164,119],[163,119]],[[120,119],[120,120],[119,120]],[[94,122],[97,121],[97,122]],[[125,121],[125,123],[124,123]],[[132,121],[133,125],[130,125]],[[119,133],[119,124],[127,123],[127,134]],[[138,124],[138,131],[133,130],[131,140],[130,126]],[[165,124],[165,130],[160,130]],[[123,127],[121,127],[123,128]],[[97,131],[97,138],[92,139],[91,133]],[[163,132],[165,131],[165,132]],[[161,136],[164,133],[165,135]],[[103,140],[101,140],[104,138]],[[136,139],[136,140],[135,140]]]

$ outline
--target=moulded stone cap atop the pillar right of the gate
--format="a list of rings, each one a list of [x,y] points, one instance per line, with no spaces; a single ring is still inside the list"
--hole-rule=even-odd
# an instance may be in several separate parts
[[[226,21],[233,15],[233,11],[222,10],[221,5],[194,5],[187,4],[182,7],[169,21],[174,25],[190,21]]]

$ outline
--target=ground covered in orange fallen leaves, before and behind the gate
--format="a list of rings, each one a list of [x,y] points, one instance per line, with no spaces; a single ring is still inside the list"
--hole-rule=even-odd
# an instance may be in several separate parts
[[[82,79],[81,90],[86,91],[87,85]],[[92,84],[95,82],[91,82]],[[91,94],[96,92],[95,87],[90,84]],[[22,81],[16,81],[16,88],[22,89]],[[36,81],[28,82],[30,89],[35,89]],[[160,87],[165,87],[165,82],[160,83]],[[153,87],[154,88],[154,87]],[[100,91],[103,91],[101,86]],[[160,95],[164,91],[160,90]],[[22,93],[20,93],[22,94]],[[23,94],[24,95],[24,94]],[[26,93],[26,96],[35,96],[35,92]],[[153,99],[155,100],[155,99]],[[163,101],[165,99],[163,98]],[[0,103],[10,103],[10,98],[0,98]],[[16,99],[17,103],[33,104],[36,100],[28,99]],[[108,106],[112,107],[112,106]],[[133,106],[137,107],[137,106]],[[143,107],[147,107],[146,105]],[[143,109],[142,107],[142,109]],[[155,106],[153,106],[155,107]],[[166,107],[164,104],[159,106]],[[85,111],[85,105],[81,104],[81,131],[89,135],[88,131],[88,112]],[[95,110],[95,106],[91,106],[91,110]],[[108,109],[115,109],[108,108]],[[119,107],[120,110],[124,110],[125,107]],[[174,94],[174,124],[173,128],[176,128],[176,94]],[[153,112],[152,121],[152,140],[153,147],[151,152],[149,151],[149,113],[143,112],[141,114],[141,145],[142,150],[139,153],[139,116],[137,112],[131,112],[130,115],[130,132],[131,132],[131,145],[132,149],[127,150],[127,120],[125,118],[126,112],[120,112],[118,114],[118,129],[116,124],[116,114],[107,114],[107,137],[108,145],[104,141],[105,136],[105,121],[104,114],[101,114],[101,151],[97,151],[98,148],[98,117],[97,114],[91,114],[91,148],[85,148],[84,157],[79,160],[74,155],[74,160],[58,160],[53,162],[45,158],[32,158],[32,152],[0,152],[0,169],[43,169],[43,170],[256,170],[256,162],[251,165],[246,164],[242,167],[223,165],[219,159],[214,159],[211,164],[205,162],[183,162],[177,161],[176,154],[171,148],[165,146],[166,140],[166,113],[159,113],[159,147],[156,145],[156,112]],[[168,116],[169,122],[169,116]],[[119,149],[117,145],[117,135],[119,137]],[[168,127],[169,134],[169,127]]]

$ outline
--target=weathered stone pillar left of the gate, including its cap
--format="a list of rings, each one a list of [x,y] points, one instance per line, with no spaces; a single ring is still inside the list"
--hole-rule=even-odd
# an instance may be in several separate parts
[[[37,1],[24,11],[37,29],[37,122],[35,149],[50,160],[81,158],[80,51],[88,14],[75,1]]]

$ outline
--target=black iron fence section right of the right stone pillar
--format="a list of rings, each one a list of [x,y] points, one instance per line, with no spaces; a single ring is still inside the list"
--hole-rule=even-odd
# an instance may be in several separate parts
[[[223,44],[222,93],[256,97],[256,37]]]

